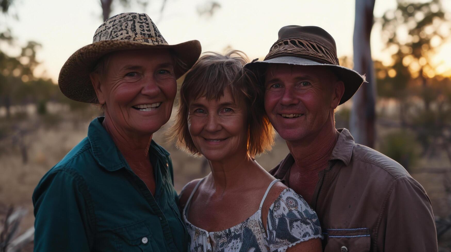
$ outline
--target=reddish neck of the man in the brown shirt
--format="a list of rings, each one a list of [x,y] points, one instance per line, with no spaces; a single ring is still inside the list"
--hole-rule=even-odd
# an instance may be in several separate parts
[[[326,168],[339,135],[333,116],[330,116],[318,132],[300,140],[287,141],[297,171],[304,175],[316,175]]]

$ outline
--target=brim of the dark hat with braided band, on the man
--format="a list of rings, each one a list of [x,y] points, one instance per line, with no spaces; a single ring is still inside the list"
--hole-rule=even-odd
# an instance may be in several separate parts
[[[330,67],[340,81],[345,84],[345,92],[341,97],[340,104],[345,103],[349,100],[357,90],[359,90],[360,85],[365,81],[365,76],[360,75],[352,69],[347,67],[342,67],[333,64],[319,63],[308,58],[300,58],[295,56],[281,56],[277,58],[271,58],[263,61],[254,61],[244,65],[245,68],[251,70],[256,75],[262,75],[266,71],[268,64],[289,64],[298,66],[323,66]]]

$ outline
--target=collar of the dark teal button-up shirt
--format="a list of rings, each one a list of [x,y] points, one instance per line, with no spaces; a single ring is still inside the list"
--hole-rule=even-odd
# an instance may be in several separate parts
[[[117,171],[123,167],[130,169],[124,156],[122,156],[113,139],[111,139],[110,134],[102,126],[104,119],[105,117],[95,118],[87,129],[87,138],[91,143],[94,158],[107,171]],[[149,152],[152,152],[157,157],[169,156],[169,153],[156,144],[154,140],[151,141]]]

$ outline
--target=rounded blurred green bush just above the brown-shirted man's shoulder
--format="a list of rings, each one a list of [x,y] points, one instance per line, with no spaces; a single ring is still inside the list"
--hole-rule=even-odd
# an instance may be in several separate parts
[[[410,171],[419,158],[415,134],[406,130],[394,131],[384,136],[379,151],[400,163],[407,171]]]

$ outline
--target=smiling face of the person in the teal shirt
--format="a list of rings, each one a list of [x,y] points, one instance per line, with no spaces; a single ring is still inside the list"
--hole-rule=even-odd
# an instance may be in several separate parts
[[[170,118],[177,92],[172,57],[163,49],[116,52],[102,76],[92,74],[105,116],[120,131],[148,135]]]

